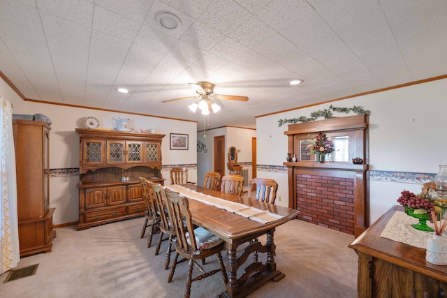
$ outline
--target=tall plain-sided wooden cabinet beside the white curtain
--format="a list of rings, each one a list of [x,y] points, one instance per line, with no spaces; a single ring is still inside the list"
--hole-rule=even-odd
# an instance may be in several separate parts
[[[50,130],[43,121],[13,120],[20,256],[50,252]]]

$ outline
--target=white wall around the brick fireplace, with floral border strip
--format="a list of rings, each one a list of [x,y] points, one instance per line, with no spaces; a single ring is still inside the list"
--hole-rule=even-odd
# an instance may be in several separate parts
[[[333,103],[306,107],[280,114],[256,118],[258,131],[258,165],[283,165],[287,154],[287,126],[278,127],[279,119],[309,117],[311,112],[323,110],[331,104],[335,107],[362,106],[370,110],[369,117],[369,169],[432,173],[438,165],[447,164],[446,111],[447,80],[437,80],[376,94],[358,96]],[[352,113],[351,113],[352,114]],[[351,114],[337,114],[343,117]],[[268,148],[268,149],[265,149]],[[261,173],[258,171],[258,174]],[[288,200],[287,174],[271,175],[279,183],[277,204],[286,205]],[[420,193],[420,184],[399,181],[370,181],[370,222],[386,212],[402,190]]]

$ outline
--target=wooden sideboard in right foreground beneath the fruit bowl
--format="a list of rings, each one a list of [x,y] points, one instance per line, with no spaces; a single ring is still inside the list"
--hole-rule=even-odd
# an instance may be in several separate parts
[[[395,206],[349,245],[358,254],[358,297],[447,297],[447,266],[425,260],[424,248],[386,238],[381,232]]]

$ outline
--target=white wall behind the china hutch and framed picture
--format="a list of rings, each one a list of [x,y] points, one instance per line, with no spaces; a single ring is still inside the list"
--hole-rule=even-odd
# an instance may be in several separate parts
[[[161,148],[163,167],[165,165],[194,165],[189,170],[189,181],[197,181],[195,168],[197,163],[196,122],[24,101],[1,79],[0,94],[10,103],[13,103],[14,114],[41,113],[52,121],[52,130],[50,131],[50,169],[79,167],[79,136],[75,132],[75,128],[85,128],[85,117],[98,119],[100,128],[113,128],[112,119],[120,117],[130,118],[129,127],[134,128],[135,131],[140,131],[140,128],[155,128],[156,133],[166,134]],[[189,150],[170,150],[170,133],[189,135]],[[166,185],[170,184],[169,170],[162,170],[161,173],[163,178],[166,179]],[[78,221],[78,183],[78,175],[50,178],[50,207],[56,208],[53,216],[55,224]]]

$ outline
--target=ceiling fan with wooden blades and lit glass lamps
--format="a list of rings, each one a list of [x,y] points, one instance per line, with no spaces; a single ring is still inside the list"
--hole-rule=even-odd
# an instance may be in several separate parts
[[[189,83],[189,85],[193,87],[194,90],[196,90],[198,96],[188,96],[170,100],[163,100],[163,103],[169,103],[171,101],[184,100],[184,99],[200,98],[200,101],[198,103],[193,103],[189,105],[189,109],[193,112],[196,112],[197,108],[200,108],[202,114],[206,115],[210,114],[210,110],[212,110],[213,112],[221,110],[221,107],[219,105],[211,102],[209,96],[217,99],[239,100],[239,101],[249,100],[247,96],[213,94],[214,84],[210,82]]]

